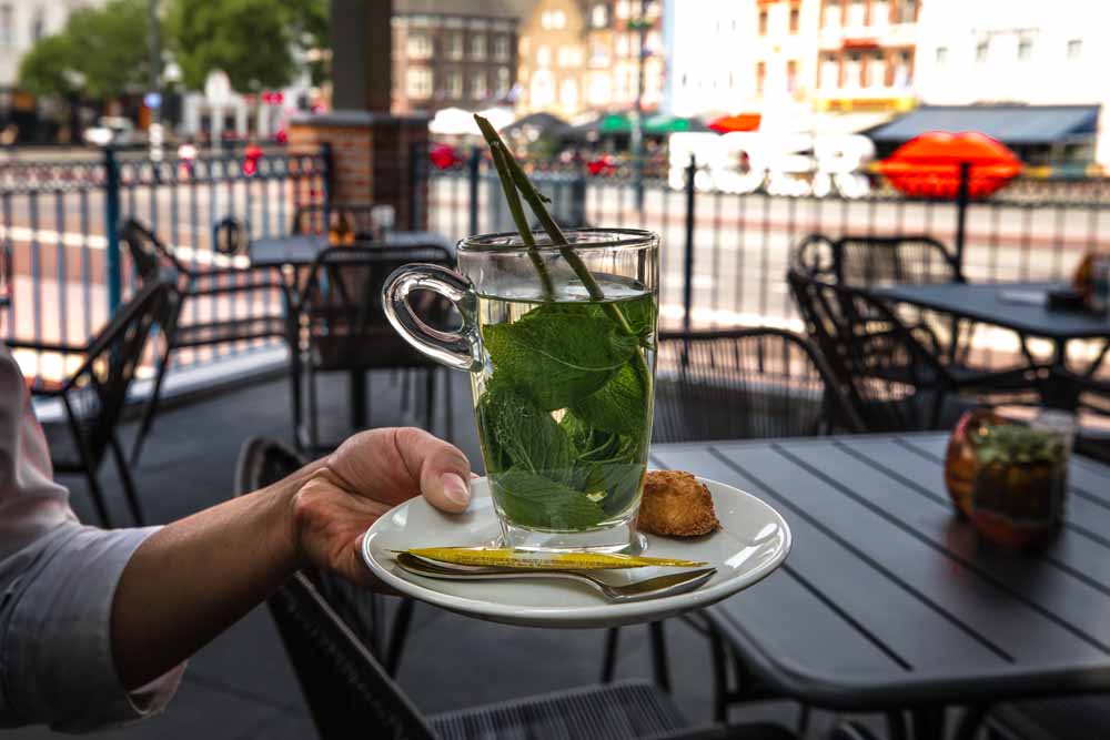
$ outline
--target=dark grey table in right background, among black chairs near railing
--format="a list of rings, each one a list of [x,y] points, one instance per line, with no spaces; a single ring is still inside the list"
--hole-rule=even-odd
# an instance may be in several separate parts
[[[1051,373],[1045,387],[1045,403],[1074,410],[1077,392],[1061,373],[1067,359],[1067,345],[1074,339],[1110,341],[1110,317],[1080,311],[1050,311],[1047,305],[1048,292],[1061,287],[1067,286],[1043,282],[938,283],[896,284],[872,287],[869,292],[896,303],[1012,330],[1021,337],[1022,352],[1030,362],[1032,356],[1026,347],[1026,339],[1049,339],[1053,351]],[[1038,302],[1041,295],[1045,301]]]

